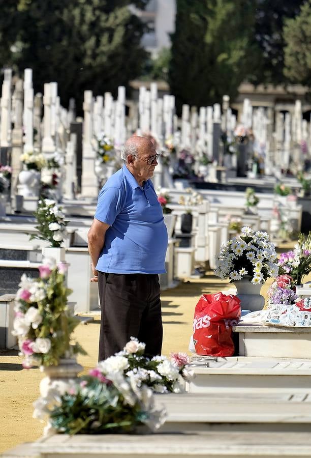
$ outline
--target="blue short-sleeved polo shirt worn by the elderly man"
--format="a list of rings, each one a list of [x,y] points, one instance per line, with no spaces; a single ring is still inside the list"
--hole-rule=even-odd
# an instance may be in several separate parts
[[[110,225],[97,270],[128,274],[166,272],[168,235],[151,180],[139,186],[123,165],[101,189],[95,218]]]

